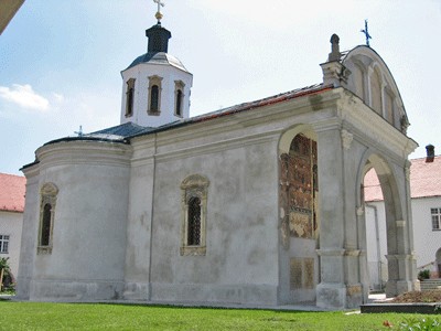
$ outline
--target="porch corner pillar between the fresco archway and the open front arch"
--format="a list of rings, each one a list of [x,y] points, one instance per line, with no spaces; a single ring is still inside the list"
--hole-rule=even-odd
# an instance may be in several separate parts
[[[342,309],[346,306],[344,249],[344,160],[340,124],[314,128],[318,132],[319,205],[321,215],[321,282],[316,306]]]

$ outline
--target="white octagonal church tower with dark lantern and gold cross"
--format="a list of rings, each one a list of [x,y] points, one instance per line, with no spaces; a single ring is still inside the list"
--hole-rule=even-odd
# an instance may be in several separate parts
[[[160,127],[190,116],[193,75],[168,53],[172,34],[161,25],[161,0],[157,24],[146,30],[147,53],[138,56],[122,76],[121,120],[143,127]]]

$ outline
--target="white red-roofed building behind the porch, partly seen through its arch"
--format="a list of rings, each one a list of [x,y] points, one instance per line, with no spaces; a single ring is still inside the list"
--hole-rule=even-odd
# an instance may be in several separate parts
[[[427,149],[428,157],[411,160],[410,167],[415,256],[418,271],[428,269],[432,278],[441,278],[441,157],[433,146]],[[388,271],[386,216],[374,171],[366,174],[364,188],[370,286],[380,289]]]

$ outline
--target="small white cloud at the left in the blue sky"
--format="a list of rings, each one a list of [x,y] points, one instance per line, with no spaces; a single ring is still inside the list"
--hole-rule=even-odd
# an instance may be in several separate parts
[[[36,94],[29,84],[12,84],[12,87],[0,86],[0,98],[24,109],[45,111],[50,108],[49,100]]]

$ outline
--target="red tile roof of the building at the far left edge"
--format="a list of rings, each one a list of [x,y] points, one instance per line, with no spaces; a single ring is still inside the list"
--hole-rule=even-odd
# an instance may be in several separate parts
[[[0,211],[24,211],[25,184],[22,175],[0,173]]]

